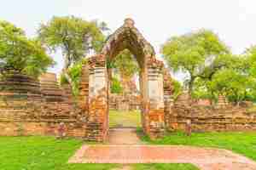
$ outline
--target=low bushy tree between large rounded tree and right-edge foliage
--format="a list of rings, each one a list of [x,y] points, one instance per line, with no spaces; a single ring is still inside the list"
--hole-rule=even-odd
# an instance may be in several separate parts
[[[211,72],[211,74],[209,74],[208,70],[205,71],[203,75],[195,80],[193,97],[217,101],[218,94],[223,94],[232,101],[238,101],[238,90],[242,90],[242,87],[240,87],[242,84],[239,84],[239,78],[244,80],[244,78],[247,77],[246,57],[228,54],[215,59],[212,65],[220,65],[220,67],[218,68],[218,66],[216,66],[215,68],[218,68],[218,70],[214,71],[213,74]],[[211,77],[206,78],[205,75],[211,75]],[[243,89],[246,89],[246,86],[244,86]],[[232,92],[236,94],[232,94]],[[230,97],[231,94],[233,95],[232,99]]]

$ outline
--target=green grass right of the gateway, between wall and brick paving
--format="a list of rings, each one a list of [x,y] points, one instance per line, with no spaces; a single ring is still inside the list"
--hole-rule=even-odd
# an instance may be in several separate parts
[[[192,133],[190,137],[184,133],[168,133],[163,139],[153,141],[147,136],[142,139],[150,144],[183,144],[233,150],[256,161],[256,133]]]

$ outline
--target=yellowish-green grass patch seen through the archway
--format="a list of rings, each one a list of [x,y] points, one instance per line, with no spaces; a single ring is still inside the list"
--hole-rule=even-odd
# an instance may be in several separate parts
[[[141,127],[140,111],[109,111],[109,127]]]

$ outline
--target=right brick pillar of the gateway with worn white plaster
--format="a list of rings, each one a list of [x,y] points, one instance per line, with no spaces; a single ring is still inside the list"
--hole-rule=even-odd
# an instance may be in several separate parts
[[[151,139],[160,138],[165,132],[163,63],[148,60],[148,102],[144,110],[144,132]]]

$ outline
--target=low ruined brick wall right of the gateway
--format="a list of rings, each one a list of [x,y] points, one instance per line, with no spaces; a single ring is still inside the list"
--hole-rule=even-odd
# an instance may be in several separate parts
[[[168,114],[166,127],[184,130],[187,120],[192,122],[194,132],[254,131],[256,113],[234,106],[203,106],[174,104]]]

